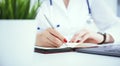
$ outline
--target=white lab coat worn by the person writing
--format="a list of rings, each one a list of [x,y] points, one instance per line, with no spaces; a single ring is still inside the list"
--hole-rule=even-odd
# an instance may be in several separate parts
[[[113,36],[115,42],[120,42],[120,22],[110,8],[101,0],[89,0],[94,22],[88,23],[89,12],[86,0],[70,0],[66,9],[63,0],[53,0],[50,6],[49,0],[43,0],[36,20],[39,32],[50,27],[45,19],[46,15],[55,29],[68,40],[81,29],[106,32]],[[59,27],[58,27],[59,26]]]

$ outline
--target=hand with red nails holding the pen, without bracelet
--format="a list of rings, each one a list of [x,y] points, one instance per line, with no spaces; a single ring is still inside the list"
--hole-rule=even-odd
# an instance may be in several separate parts
[[[55,29],[48,28],[43,32],[37,33],[36,45],[41,47],[60,47],[67,40]]]

